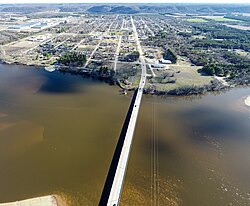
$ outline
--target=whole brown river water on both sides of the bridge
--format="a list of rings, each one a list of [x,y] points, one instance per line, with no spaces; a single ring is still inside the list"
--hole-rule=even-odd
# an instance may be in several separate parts
[[[250,205],[250,88],[143,97],[120,205]],[[98,205],[131,94],[0,65],[0,203]]]

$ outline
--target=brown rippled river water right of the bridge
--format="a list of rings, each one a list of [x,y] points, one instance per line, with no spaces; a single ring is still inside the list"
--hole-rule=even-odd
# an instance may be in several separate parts
[[[249,94],[144,96],[122,205],[250,205]]]

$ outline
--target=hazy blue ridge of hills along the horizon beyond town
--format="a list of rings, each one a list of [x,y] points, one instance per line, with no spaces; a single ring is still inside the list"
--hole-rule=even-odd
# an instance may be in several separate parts
[[[250,4],[0,4],[0,12],[35,13],[48,10],[82,13],[182,13],[182,14],[230,14],[250,13]]]

